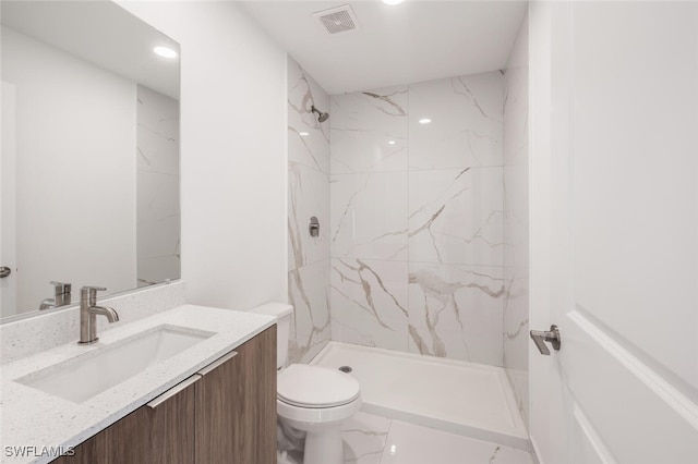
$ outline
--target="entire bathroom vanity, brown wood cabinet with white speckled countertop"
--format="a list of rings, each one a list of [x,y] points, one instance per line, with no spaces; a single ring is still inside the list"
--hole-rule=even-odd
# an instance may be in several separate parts
[[[188,333],[201,339],[104,391],[49,381],[65,371],[77,378],[95,361],[108,379],[117,367],[105,355],[141,343],[120,363],[136,365],[167,349],[143,344],[164,331],[176,343]],[[0,462],[273,464],[276,338],[272,317],[183,305],[107,330],[94,345],[70,343],[5,364],[3,450],[47,447],[49,455],[5,452]]]

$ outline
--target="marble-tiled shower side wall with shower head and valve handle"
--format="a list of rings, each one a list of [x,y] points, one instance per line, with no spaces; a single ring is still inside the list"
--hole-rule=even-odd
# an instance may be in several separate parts
[[[294,307],[289,362],[308,363],[330,340],[329,322],[329,122],[311,106],[329,110],[329,96],[288,58],[288,298]],[[310,218],[320,220],[311,237]]]

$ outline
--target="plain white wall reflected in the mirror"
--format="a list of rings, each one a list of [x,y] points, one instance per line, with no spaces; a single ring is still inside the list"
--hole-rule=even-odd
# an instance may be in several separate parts
[[[52,280],[73,298],[134,288],[135,84],[7,27],[2,56],[16,90],[17,307],[38,309]]]

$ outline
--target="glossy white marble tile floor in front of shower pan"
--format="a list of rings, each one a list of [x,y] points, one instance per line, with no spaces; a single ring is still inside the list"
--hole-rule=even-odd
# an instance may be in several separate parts
[[[526,451],[366,413],[347,420],[341,435],[345,464],[532,464]]]

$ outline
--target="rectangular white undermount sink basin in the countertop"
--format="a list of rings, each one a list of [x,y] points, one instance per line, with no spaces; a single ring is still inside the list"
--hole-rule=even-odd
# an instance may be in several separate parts
[[[82,403],[213,334],[177,326],[158,326],[15,381]]]

